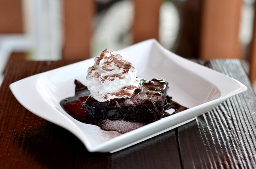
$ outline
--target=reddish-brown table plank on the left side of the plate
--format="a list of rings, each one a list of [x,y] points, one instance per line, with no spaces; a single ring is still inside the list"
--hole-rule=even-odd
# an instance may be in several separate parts
[[[0,168],[71,168],[77,138],[26,110],[9,85],[70,61],[13,61],[0,88]],[[22,89],[20,89],[22,90]]]

